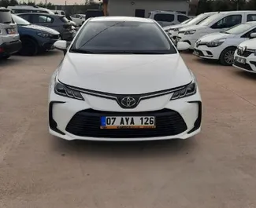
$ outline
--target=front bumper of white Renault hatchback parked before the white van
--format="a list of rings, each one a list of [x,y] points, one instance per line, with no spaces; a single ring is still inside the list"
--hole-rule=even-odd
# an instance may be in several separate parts
[[[221,56],[221,52],[223,51],[221,46],[217,47],[208,47],[206,45],[194,46],[194,54],[197,57],[201,57],[204,59],[212,59],[218,60]]]

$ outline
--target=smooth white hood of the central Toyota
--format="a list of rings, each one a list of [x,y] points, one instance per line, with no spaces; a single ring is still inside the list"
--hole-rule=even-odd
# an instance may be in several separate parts
[[[117,94],[150,93],[192,81],[179,53],[120,55],[67,53],[58,79],[69,86]]]

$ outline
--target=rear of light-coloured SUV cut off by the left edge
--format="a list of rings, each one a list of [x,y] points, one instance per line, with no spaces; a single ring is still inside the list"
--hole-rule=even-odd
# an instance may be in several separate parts
[[[21,48],[17,24],[9,9],[0,7],[0,59],[8,59]]]

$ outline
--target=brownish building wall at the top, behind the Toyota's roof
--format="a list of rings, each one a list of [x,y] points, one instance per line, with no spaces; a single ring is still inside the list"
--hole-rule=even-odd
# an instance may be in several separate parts
[[[135,9],[145,9],[145,17],[154,10],[186,11],[189,4],[184,0],[109,0],[109,16],[135,16]]]

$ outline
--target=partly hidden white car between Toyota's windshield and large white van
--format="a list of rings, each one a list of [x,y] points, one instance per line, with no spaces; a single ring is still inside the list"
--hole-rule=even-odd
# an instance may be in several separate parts
[[[184,21],[181,24],[164,27],[164,30],[166,32],[168,32],[170,38],[176,39],[180,29],[189,27],[191,25],[197,25],[197,24],[201,23],[203,20],[206,20],[209,16],[212,16],[213,14],[216,14],[216,13],[217,12],[202,13],[202,14],[199,14],[198,16],[195,16],[195,18],[193,18],[193,19],[188,19],[188,20]]]

